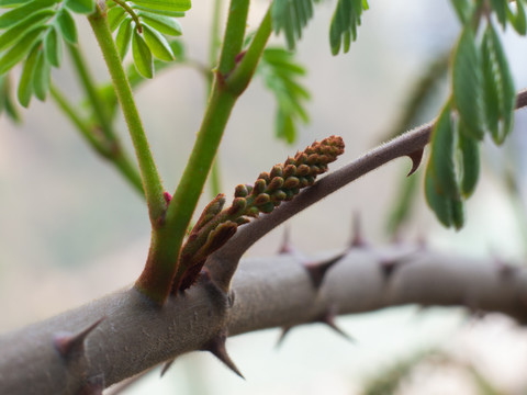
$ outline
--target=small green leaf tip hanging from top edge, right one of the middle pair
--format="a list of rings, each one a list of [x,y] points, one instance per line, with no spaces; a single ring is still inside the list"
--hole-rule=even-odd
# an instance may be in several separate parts
[[[357,26],[361,23],[362,11],[368,10],[366,0],[338,0],[329,26],[332,54],[338,55],[340,48],[349,52],[352,41],[357,40]]]

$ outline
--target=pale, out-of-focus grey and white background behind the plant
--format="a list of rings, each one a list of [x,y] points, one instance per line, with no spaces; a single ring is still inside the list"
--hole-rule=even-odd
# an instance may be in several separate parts
[[[180,22],[189,58],[206,63],[213,0],[194,1]],[[268,1],[253,1],[255,30]],[[362,19],[359,38],[346,55],[328,44],[334,2],[317,5],[296,59],[312,93],[311,122],[287,145],[273,136],[276,104],[260,79],[239,100],[220,151],[223,190],[251,183],[258,173],[296,149],[330,134],[344,137],[346,154],[336,169],[395,133],[433,119],[448,89],[442,66],[459,26],[448,1],[378,0]],[[225,10],[223,10],[225,14]],[[82,48],[97,79],[108,80],[94,38],[78,20]],[[526,87],[527,43],[504,35],[518,89]],[[282,37],[274,37],[277,45]],[[67,59],[66,59],[67,60]],[[20,72],[20,70],[15,70]],[[428,77],[427,77],[428,76]],[[431,77],[430,77],[431,76]],[[407,120],[413,92],[431,79],[431,92]],[[72,102],[82,92],[66,63],[54,81]],[[422,81],[422,82],[419,82]],[[173,191],[191,150],[205,103],[206,83],[195,69],[178,66],[137,90],[137,101],[167,190]],[[130,286],[144,264],[149,222],[141,196],[85,144],[52,101],[34,101],[15,125],[0,117],[0,332]],[[340,250],[358,213],[373,245],[426,238],[434,248],[462,255],[495,255],[522,264],[527,244],[524,191],[527,119],[504,147],[483,149],[483,177],[467,204],[467,225],[440,227],[424,203],[422,177],[415,193],[404,174],[407,159],[394,161],[328,196],[288,223],[304,253]],[[123,144],[132,153],[124,122]],[[401,194],[414,196],[406,221]],[[205,191],[200,202],[210,200]],[[397,211],[399,207],[399,211]],[[403,207],[403,208],[401,208]],[[396,225],[396,226],[395,226]],[[255,245],[248,256],[272,256],[283,227]],[[178,359],[159,380],[159,369],[123,394],[526,394],[527,332],[500,315],[470,317],[463,308],[390,308],[338,319],[356,342],[318,325],[295,328],[280,349],[278,329],[229,338],[229,353],[246,376],[235,376],[205,353]],[[108,394],[112,390],[108,391]],[[113,392],[115,393],[115,392]]]

